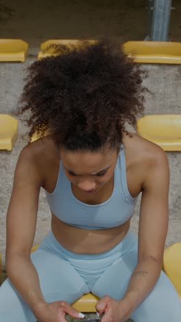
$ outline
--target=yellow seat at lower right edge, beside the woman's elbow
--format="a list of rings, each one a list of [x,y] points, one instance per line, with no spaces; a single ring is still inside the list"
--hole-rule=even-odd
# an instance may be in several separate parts
[[[175,286],[181,299],[181,243],[176,243],[165,249],[163,270]]]

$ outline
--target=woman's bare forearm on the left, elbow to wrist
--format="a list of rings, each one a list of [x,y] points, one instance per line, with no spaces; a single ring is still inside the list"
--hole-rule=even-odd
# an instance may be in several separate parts
[[[11,256],[7,261],[7,272],[12,285],[33,312],[37,303],[45,302],[38,273],[30,258],[23,255]]]

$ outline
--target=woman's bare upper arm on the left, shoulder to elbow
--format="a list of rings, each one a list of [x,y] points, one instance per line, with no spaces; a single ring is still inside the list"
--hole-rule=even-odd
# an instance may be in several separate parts
[[[31,148],[25,147],[16,164],[7,214],[6,260],[14,253],[29,254],[36,231],[42,175]]]

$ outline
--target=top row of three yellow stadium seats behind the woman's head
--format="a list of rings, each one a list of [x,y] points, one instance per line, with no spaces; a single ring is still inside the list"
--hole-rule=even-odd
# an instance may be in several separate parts
[[[51,39],[40,44],[38,59],[51,55],[52,44],[76,44],[77,39]],[[89,40],[92,41],[93,40]],[[168,41],[128,41],[123,44],[128,55],[137,63],[181,64],[181,43]],[[24,62],[28,43],[21,39],[0,39],[0,61]]]

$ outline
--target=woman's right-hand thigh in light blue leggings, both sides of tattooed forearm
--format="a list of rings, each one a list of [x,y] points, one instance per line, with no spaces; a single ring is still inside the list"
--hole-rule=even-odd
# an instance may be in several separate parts
[[[91,291],[99,298],[109,295],[113,299],[121,300],[136,264],[136,251],[123,255],[99,277]],[[180,299],[164,272],[161,272],[152,292],[130,317],[134,322],[181,321]]]

